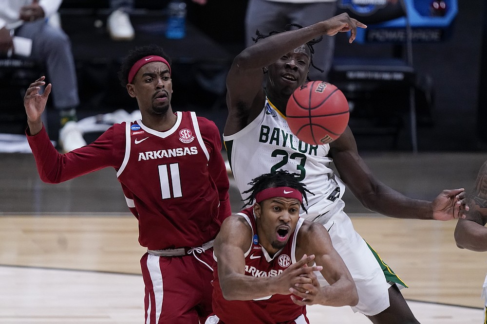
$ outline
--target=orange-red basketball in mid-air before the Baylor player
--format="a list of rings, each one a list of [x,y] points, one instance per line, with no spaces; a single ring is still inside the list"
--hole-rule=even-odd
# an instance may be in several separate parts
[[[308,144],[328,144],[343,133],[350,116],[347,98],[331,83],[311,81],[296,89],[286,106],[287,124]]]

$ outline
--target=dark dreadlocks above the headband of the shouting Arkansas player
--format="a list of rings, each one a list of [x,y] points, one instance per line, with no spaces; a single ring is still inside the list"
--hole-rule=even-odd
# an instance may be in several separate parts
[[[244,203],[247,201],[244,207],[251,205],[254,202],[256,195],[262,190],[276,187],[290,187],[298,190],[303,195],[304,201],[306,201],[307,204],[308,198],[306,197],[306,193],[308,192],[312,195],[314,194],[308,189],[304,188],[306,185],[300,182],[298,177],[299,174],[297,173],[289,173],[289,171],[286,170],[278,170],[252,179],[252,181],[248,183],[252,185],[252,187],[244,191],[244,194],[249,194],[246,199],[243,199]],[[301,208],[307,212],[303,204],[301,204]]]

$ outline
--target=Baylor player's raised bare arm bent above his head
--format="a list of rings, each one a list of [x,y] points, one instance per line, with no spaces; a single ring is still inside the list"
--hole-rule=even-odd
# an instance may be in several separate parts
[[[229,116],[225,125],[225,135],[234,134],[242,129],[262,110],[262,68],[322,35],[333,36],[339,32],[350,31],[352,42],[356,37],[357,27],[367,26],[344,13],[311,26],[263,38],[244,49],[235,57],[226,78]]]

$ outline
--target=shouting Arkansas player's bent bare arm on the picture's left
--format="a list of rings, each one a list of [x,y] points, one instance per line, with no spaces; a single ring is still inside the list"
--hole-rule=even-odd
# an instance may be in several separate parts
[[[233,215],[225,219],[214,244],[218,259],[220,288],[226,300],[252,300],[274,294],[290,294],[290,288],[309,283],[306,274],[321,267],[304,267],[314,256],[303,256],[279,276],[253,277],[245,275],[244,253],[251,245],[252,232],[244,217]]]

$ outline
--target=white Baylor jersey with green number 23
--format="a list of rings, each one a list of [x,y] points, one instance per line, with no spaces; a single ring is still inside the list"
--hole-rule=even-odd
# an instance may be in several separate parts
[[[330,168],[329,144],[311,145],[300,141],[287,125],[286,117],[266,99],[259,116],[239,132],[223,136],[228,161],[242,198],[252,179],[269,172],[287,170],[298,173],[306,189],[307,214],[317,220],[331,210],[343,196],[345,186]],[[304,201],[303,201],[304,203]],[[331,213],[330,213],[331,214]],[[325,216],[326,218],[326,216]],[[320,223],[326,219],[320,219]]]

